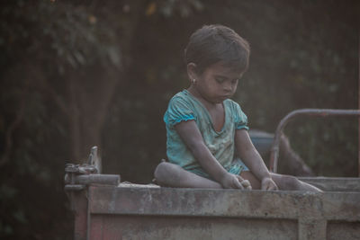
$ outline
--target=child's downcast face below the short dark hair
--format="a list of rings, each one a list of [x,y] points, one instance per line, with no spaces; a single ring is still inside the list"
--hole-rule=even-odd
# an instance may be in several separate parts
[[[201,75],[194,75],[196,79],[194,87],[202,98],[211,103],[220,103],[236,92],[238,80],[243,72],[218,62],[207,67]]]

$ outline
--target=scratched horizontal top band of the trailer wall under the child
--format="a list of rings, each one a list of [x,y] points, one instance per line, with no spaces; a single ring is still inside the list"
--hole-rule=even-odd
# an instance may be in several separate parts
[[[90,187],[98,214],[360,220],[360,192]]]

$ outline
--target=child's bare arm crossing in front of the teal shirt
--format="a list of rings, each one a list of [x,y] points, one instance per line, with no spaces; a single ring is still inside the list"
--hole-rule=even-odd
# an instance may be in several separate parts
[[[206,147],[202,134],[194,120],[182,121],[175,125],[175,130],[189,147],[202,168],[223,188],[244,189],[236,175],[228,173]]]

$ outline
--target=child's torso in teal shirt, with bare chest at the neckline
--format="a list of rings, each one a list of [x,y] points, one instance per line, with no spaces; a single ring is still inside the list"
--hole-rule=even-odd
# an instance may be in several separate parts
[[[195,120],[205,145],[211,151],[211,154],[219,163],[229,168],[234,158],[234,137],[236,130],[236,108],[235,102],[226,100],[209,110],[187,91],[177,93],[169,103],[169,107],[164,116],[166,121],[166,154],[171,163],[179,164],[184,169],[193,173],[203,172],[201,166],[192,153],[185,146],[182,139],[175,131],[175,122],[186,120]],[[170,119],[174,118],[172,124]],[[180,120],[176,120],[180,119]],[[204,173],[206,174],[206,173]]]

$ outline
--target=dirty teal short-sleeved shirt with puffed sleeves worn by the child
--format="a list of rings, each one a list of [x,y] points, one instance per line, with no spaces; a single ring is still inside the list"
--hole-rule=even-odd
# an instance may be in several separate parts
[[[225,123],[218,132],[213,128],[209,111],[187,90],[175,94],[170,100],[164,121],[166,123],[166,155],[170,163],[178,164],[185,170],[210,178],[193,157],[190,149],[185,146],[175,130],[175,125],[181,121],[194,120],[202,133],[205,145],[219,163],[229,172],[238,174],[243,164],[234,164],[235,131],[247,128],[247,116],[241,111],[237,102],[225,100]]]

